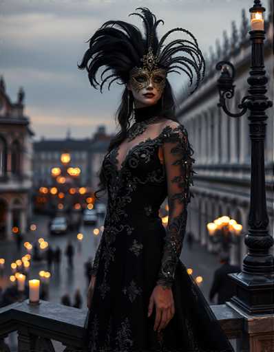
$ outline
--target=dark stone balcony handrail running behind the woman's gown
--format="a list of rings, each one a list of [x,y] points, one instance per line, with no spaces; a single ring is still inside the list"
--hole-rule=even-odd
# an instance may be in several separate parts
[[[229,339],[241,338],[244,318],[240,314],[227,305],[211,305],[211,309]],[[12,303],[0,308],[0,342],[12,331],[18,331],[19,352],[36,351],[33,339],[38,337],[61,342],[67,347],[64,351],[86,351],[86,316],[87,309],[67,307],[47,300],[40,300],[39,305],[29,305],[28,300]],[[28,340],[30,346],[22,349],[20,341],[25,347]]]

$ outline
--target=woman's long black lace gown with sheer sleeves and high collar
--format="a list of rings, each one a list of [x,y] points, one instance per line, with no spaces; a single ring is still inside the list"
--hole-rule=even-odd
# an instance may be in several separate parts
[[[157,112],[157,106],[136,109],[137,123],[153,120]],[[108,204],[92,272],[96,285],[87,325],[89,352],[233,351],[180,261],[187,203],[193,197],[192,153],[185,127],[158,118],[105,155]],[[166,197],[165,229],[158,210]],[[151,293],[161,284],[172,289],[175,314],[158,333],[155,306],[149,318],[147,313]]]

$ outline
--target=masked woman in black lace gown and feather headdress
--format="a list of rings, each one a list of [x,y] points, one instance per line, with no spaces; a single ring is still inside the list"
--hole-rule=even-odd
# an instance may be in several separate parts
[[[156,28],[163,21],[147,8],[136,10],[145,37],[127,22],[107,21],[89,39],[78,65],[87,69],[94,88],[98,69],[106,67],[101,91],[109,79],[109,87],[114,80],[125,85],[117,111],[120,131],[109,144],[97,191],[107,189],[108,203],[87,297],[88,351],[233,351],[180,261],[195,172],[187,130],[174,117],[167,74],[182,70],[191,85],[196,74],[192,94],[204,77],[204,58],[190,32],[176,28],[158,41]],[[162,49],[172,32],[190,40]],[[165,230],[158,212],[166,197]]]

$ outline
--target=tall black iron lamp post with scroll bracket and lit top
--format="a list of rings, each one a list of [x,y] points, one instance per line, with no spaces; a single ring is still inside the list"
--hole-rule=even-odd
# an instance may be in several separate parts
[[[255,0],[251,12],[251,31],[249,32],[252,52],[251,70],[247,83],[249,95],[242,98],[238,105],[242,111],[231,113],[226,107],[226,98],[233,98],[233,78],[235,70],[231,63],[221,61],[216,69],[222,70],[218,79],[220,102],[224,112],[240,118],[249,112],[249,134],[251,137],[251,203],[249,210],[249,229],[244,243],[248,253],[244,257],[240,273],[229,274],[236,282],[237,293],[229,305],[250,316],[274,314],[274,259],[269,250],[273,246],[273,237],[268,232],[268,214],[266,210],[266,189],[264,173],[264,137],[266,134],[265,111],[273,106],[266,97],[266,71],[264,69],[264,18],[265,8],[260,0]]]

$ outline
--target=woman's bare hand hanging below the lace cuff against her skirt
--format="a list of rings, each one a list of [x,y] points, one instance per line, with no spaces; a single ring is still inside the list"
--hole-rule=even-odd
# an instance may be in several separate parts
[[[175,313],[172,290],[169,287],[157,285],[149,298],[148,316],[151,315],[154,303],[156,306],[156,319],[154,331],[165,329]]]

